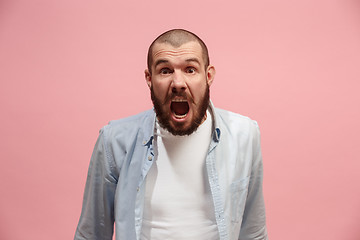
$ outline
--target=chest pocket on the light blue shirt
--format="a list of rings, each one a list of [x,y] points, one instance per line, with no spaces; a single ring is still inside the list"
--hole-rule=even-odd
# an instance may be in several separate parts
[[[249,177],[237,180],[230,186],[231,191],[231,221],[239,222],[243,216],[248,192]]]

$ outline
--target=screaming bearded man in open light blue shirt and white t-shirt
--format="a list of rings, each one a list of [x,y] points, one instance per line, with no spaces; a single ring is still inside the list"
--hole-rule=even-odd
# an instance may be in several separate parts
[[[267,239],[259,128],[214,108],[214,76],[195,34],[154,40],[154,110],[100,131],[75,239]]]

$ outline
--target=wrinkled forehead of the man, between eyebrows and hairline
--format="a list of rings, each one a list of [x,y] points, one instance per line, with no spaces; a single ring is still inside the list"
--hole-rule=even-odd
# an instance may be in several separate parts
[[[187,58],[197,58],[203,64],[202,48],[196,41],[174,47],[169,43],[156,43],[152,49],[153,63],[159,59],[166,60],[186,60]]]

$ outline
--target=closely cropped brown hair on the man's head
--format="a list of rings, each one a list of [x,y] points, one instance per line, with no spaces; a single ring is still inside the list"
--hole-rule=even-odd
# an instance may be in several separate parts
[[[153,64],[152,50],[153,50],[153,47],[155,44],[166,43],[166,44],[170,44],[171,46],[173,46],[175,48],[178,48],[181,45],[191,42],[191,41],[198,42],[200,44],[201,49],[202,49],[202,57],[203,57],[203,60],[205,63],[205,69],[206,69],[210,64],[210,59],[209,59],[209,53],[208,53],[205,43],[192,32],[189,32],[184,29],[172,29],[172,30],[164,32],[163,34],[158,36],[151,43],[151,45],[149,47],[148,57],[147,57],[147,65],[148,65],[148,70],[149,70],[150,74],[151,74],[151,66]]]

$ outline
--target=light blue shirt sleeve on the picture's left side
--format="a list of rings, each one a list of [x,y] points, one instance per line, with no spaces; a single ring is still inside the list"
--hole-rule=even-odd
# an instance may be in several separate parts
[[[74,240],[111,240],[114,231],[114,196],[117,178],[112,155],[106,148],[104,129],[91,156],[83,206]]]

